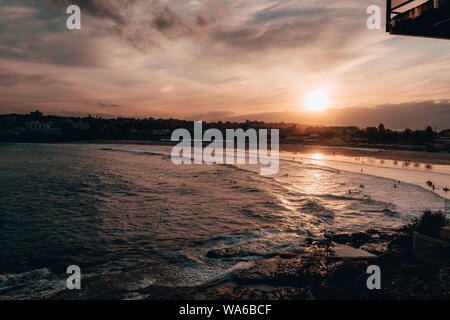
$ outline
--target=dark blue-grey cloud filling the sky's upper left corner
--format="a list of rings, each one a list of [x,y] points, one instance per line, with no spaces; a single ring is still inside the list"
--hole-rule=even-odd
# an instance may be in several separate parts
[[[62,4],[64,1],[52,1]],[[65,66],[102,66],[98,38],[69,32],[65,10],[42,2],[16,1],[0,5],[0,58]],[[42,13],[47,13],[42,15]],[[14,20],[9,19],[13,13]]]

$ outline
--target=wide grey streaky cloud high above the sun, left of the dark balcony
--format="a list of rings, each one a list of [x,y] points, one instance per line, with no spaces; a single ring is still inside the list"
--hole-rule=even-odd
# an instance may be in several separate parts
[[[366,17],[358,13],[320,6],[286,9],[277,5],[255,12],[246,24],[235,29],[217,28],[212,39],[244,53],[309,47],[315,47],[318,54],[351,51],[354,41],[367,32]]]

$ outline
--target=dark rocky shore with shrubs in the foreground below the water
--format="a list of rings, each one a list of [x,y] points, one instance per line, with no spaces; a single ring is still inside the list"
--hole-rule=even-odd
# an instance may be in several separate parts
[[[219,281],[198,287],[143,286],[133,294],[150,300],[450,299],[449,249],[429,252],[424,261],[412,248],[414,232],[436,236],[445,223],[442,217],[442,213],[426,213],[400,229],[307,239],[297,252],[261,256],[250,268]],[[224,259],[245,254],[245,247],[224,248],[212,250],[208,256]],[[370,265],[381,269],[380,290],[367,288]],[[51,299],[123,299],[120,283],[124,279],[119,278],[87,279],[83,287],[88,296],[74,296],[77,294],[65,290]]]

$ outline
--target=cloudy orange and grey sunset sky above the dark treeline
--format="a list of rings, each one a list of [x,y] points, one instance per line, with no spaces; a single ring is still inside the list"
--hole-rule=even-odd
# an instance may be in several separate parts
[[[0,113],[450,127],[450,41],[369,30],[384,3],[2,0]]]

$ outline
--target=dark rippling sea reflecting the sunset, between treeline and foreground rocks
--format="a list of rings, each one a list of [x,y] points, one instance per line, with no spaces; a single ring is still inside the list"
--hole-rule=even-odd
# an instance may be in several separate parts
[[[170,152],[1,144],[0,299],[65,290],[69,265],[83,279],[120,281],[123,299],[145,298],[134,291],[150,285],[206,283],[306,238],[444,210],[450,186],[449,166],[282,153],[278,174],[261,176],[256,165],[176,166]]]

